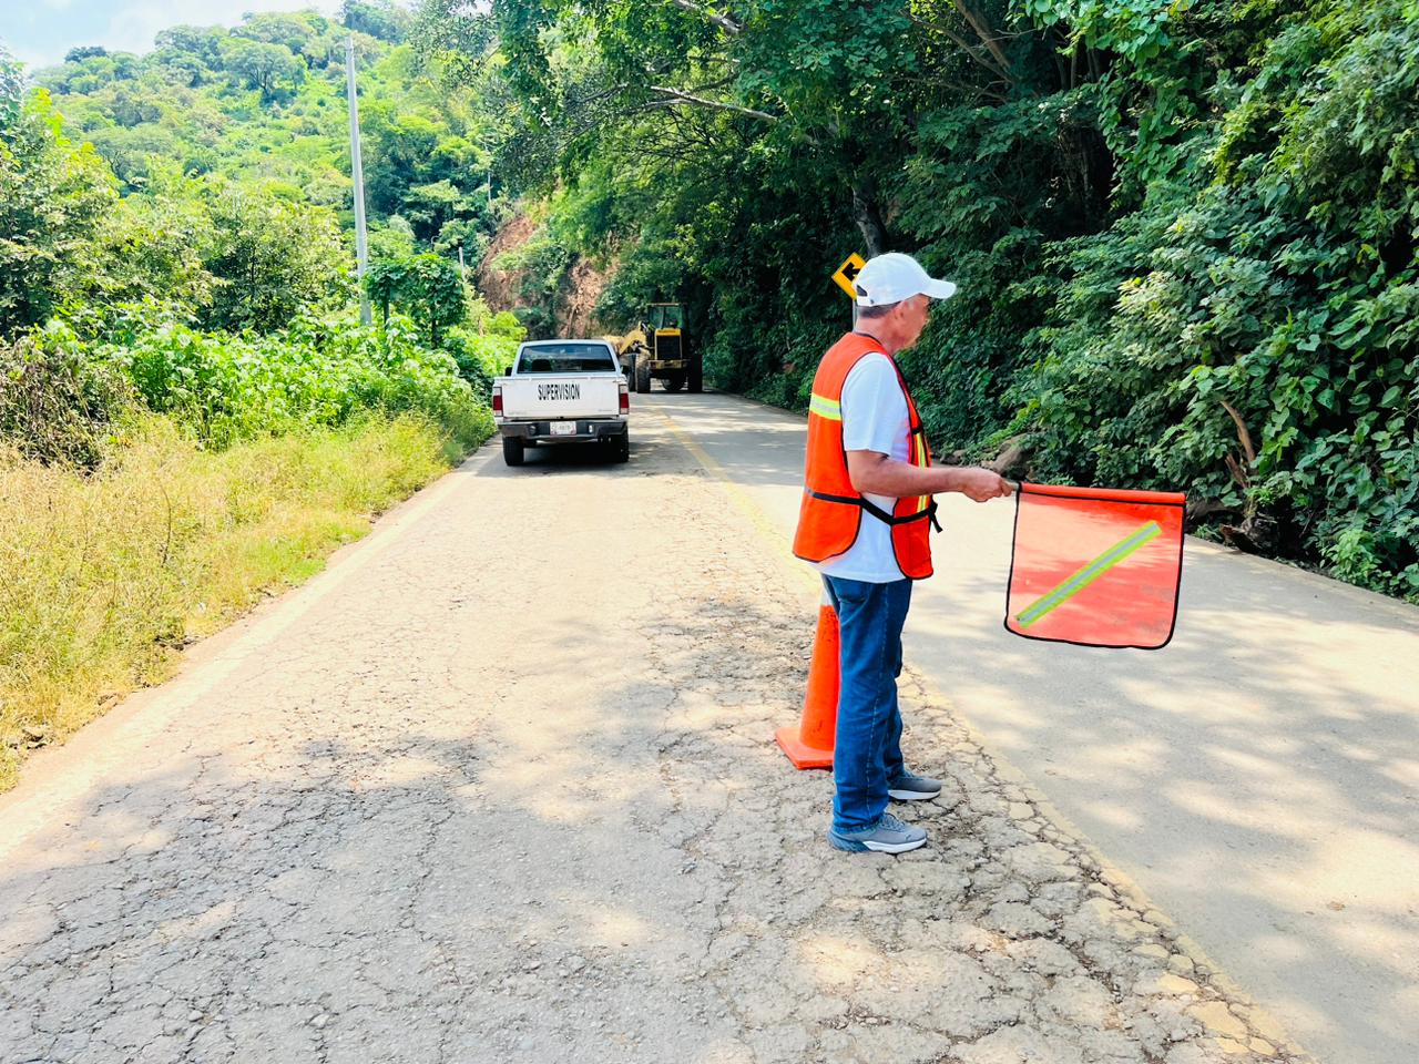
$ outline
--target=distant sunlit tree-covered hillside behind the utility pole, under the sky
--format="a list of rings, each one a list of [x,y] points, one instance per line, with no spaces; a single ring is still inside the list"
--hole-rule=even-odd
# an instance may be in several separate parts
[[[343,21],[257,14],[233,30],[163,30],[142,57],[74,48],[37,71],[13,155],[27,174],[4,221],[23,233],[23,211],[44,210],[50,224],[0,260],[17,271],[0,278],[0,329],[65,304],[145,298],[201,326],[268,329],[297,309],[348,302],[350,35],[372,258],[410,267],[440,253],[426,268],[447,274],[461,247],[477,262],[499,218],[490,207],[497,108],[477,87],[448,91],[424,77],[402,43],[409,24],[390,3],[348,3]],[[58,184],[41,180],[45,166]],[[91,241],[88,254],[75,254],[75,240]]]

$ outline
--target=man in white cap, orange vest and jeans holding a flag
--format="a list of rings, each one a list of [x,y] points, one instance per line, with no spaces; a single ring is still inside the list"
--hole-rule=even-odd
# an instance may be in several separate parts
[[[911,584],[931,576],[931,497],[959,491],[985,502],[1009,495],[1012,485],[989,470],[931,467],[894,360],[917,342],[931,301],[949,299],[956,287],[902,254],[873,258],[854,287],[857,326],[827,350],[813,377],[793,553],[823,573],[841,633],[829,841],[898,854],[925,844],[927,833],[888,813],[888,799],[941,793],[938,780],[902,762],[897,706]]]

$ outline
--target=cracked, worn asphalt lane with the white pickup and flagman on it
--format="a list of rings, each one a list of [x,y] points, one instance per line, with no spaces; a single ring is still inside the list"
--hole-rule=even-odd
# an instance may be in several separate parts
[[[0,799],[0,1061],[1303,1061],[910,665],[928,847],[792,770],[816,592],[653,409],[485,448]]]

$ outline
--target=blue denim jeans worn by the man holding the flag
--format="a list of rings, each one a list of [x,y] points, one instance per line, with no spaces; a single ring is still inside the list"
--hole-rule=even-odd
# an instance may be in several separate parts
[[[887,787],[904,767],[897,677],[911,580],[867,583],[824,576],[823,583],[841,634],[833,829],[854,831],[881,819]]]

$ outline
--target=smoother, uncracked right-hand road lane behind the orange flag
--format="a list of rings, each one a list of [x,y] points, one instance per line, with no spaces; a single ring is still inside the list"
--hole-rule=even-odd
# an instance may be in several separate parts
[[[788,542],[803,421],[650,396]],[[1013,505],[944,498],[908,655],[1334,1064],[1419,1054],[1419,610],[1189,541],[1172,644],[1002,630]]]

